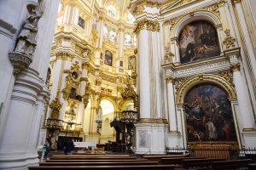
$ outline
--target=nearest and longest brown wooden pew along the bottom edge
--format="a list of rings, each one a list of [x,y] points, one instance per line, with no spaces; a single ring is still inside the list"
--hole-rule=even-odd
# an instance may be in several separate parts
[[[28,167],[29,170],[174,170],[172,165],[131,165],[131,166],[42,166],[42,167]]]

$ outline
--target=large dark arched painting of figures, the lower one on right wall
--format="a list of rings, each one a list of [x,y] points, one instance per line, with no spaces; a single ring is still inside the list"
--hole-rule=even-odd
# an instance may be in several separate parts
[[[236,129],[228,95],[205,84],[192,88],[184,99],[189,142],[236,141]]]

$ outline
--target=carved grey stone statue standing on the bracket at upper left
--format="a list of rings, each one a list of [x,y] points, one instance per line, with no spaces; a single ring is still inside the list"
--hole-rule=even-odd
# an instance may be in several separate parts
[[[32,56],[37,46],[38,21],[42,17],[37,9],[32,9],[31,14],[26,19],[25,25],[22,27],[17,38],[15,52]]]

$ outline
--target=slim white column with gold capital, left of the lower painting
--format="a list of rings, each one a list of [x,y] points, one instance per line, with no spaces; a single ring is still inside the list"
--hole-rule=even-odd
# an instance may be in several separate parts
[[[168,100],[170,132],[177,133],[177,117],[176,117],[176,106],[174,101],[175,98],[174,98],[172,77],[166,77],[166,83],[167,83],[167,100]]]

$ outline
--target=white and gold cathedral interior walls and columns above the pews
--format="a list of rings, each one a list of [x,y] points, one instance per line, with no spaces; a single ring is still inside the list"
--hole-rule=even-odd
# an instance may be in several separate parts
[[[0,169],[38,165],[45,143],[63,150],[69,139],[135,155],[256,155],[255,8],[0,1]]]

